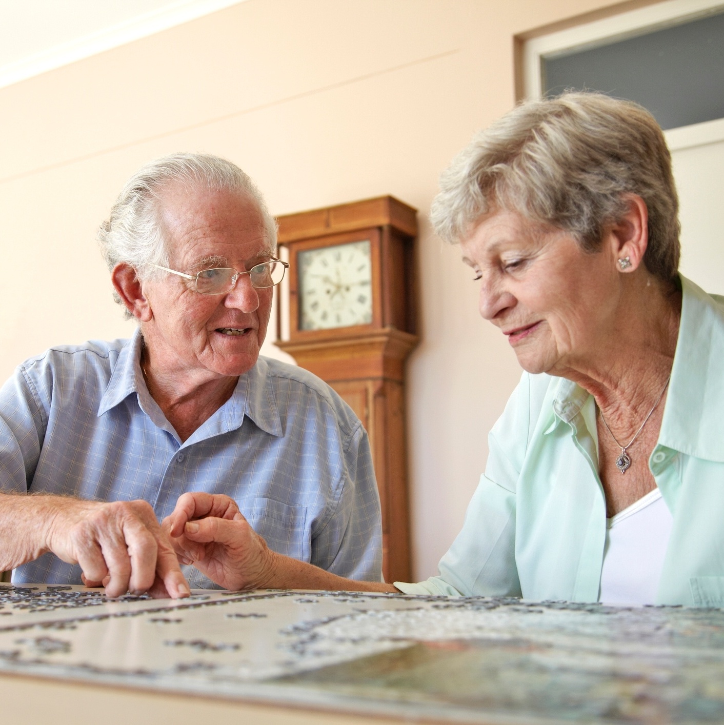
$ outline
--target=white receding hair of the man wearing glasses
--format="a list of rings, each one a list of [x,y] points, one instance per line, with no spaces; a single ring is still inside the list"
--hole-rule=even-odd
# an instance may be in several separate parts
[[[141,167],[125,184],[98,230],[108,268],[126,262],[139,279],[157,274],[151,265],[168,267],[170,249],[161,223],[162,198],[171,186],[209,191],[234,191],[251,199],[261,212],[272,249],[277,224],[254,182],[236,164],[211,154],[170,154]],[[114,293],[116,302],[122,300]],[[125,307],[125,306],[124,306]],[[126,310],[126,317],[130,318]]]

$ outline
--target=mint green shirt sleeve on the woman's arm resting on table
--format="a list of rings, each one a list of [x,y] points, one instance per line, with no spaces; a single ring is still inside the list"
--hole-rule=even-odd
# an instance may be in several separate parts
[[[462,530],[440,560],[438,576],[419,584],[396,581],[398,589],[405,594],[522,596],[515,564],[515,493],[529,428],[530,377],[524,373],[488,436],[486,471]]]

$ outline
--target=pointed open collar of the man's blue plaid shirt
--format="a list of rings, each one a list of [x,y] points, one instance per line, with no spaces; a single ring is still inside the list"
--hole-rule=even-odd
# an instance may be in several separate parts
[[[165,419],[156,420],[159,415],[163,418],[163,414],[154,399],[151,398],[141,372],[142,340],[139,328],[128,341],[128,344],[121,348],[111,373],[111,379],[101,397],[98,415],[107,413],[130,394],[136,393],[142,410],[149,415],[157,426],[166,428],[167,421]],[[206,435],[203,437],[207,437],[212,432],[207,428],[214,429],[213,433],[215,434],[236,430],[236,428],[241,427],[244,415],[254,421],[262,431],[272,436],[283,435],[269,363],[264,357],[259,357],[251,370],[239,376],[230,399],[196,433],[201,433],[201,430],[204,429]],[[188,442],[195,439],[196,433],[188,439]]]

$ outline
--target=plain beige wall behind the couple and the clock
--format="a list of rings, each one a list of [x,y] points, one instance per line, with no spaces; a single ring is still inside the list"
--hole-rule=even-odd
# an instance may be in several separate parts
[[[413,547],[436,571],[520,372],[430,235],[438,173],[515,101],[513,36],[602,0],[250,0],[0,90],[0,378],[52,344],[128,336],[95,228],[176,150],[237,162],[285,214],[380,194],[420,209],[409,362]]]

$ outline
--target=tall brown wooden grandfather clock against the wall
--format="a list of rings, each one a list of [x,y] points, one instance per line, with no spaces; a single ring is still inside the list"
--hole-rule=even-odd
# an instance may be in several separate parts
[[[330,384],[367,429],[386,581],[411,574],[404,363],[418,341],[415,214],[380,196],[278,218],[291,266],[288,340],[277,344]]]

